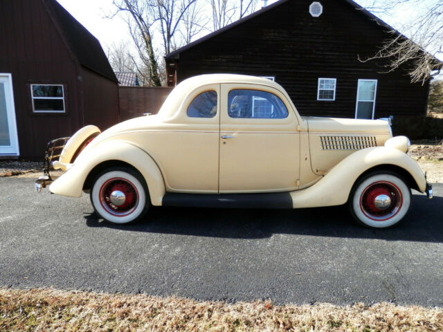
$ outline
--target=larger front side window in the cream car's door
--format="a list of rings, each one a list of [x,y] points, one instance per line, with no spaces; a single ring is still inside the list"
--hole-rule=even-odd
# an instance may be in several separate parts
[[[283,119],[288,110],[273,93],[259,90],[231,90],[228,93],[231,118]]]

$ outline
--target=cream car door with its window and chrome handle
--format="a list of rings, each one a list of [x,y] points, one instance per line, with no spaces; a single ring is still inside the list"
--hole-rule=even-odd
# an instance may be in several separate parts
[[[221,84],[219,192],[298,189],[300,134],[291,102],[255,84]]]

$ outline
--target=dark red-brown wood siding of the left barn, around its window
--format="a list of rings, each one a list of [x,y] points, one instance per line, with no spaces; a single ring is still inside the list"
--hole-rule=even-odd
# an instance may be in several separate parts
[[[80,66],[42,0],[0,1],[0,73],[12,74],[21,158],[85,124],[118,122],[118,84]],[[65,113],[33,113],[30,84],[63,84]]]

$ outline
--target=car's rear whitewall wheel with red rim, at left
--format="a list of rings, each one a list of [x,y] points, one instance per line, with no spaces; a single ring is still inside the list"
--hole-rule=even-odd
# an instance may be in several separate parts
[[[147,186],[132,169],[107,169],[98,174],[91,190],[96,213],[111,223],[132,223],[149,207]]]

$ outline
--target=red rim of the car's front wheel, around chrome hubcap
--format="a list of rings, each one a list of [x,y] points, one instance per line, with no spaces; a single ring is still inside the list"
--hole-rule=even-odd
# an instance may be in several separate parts
[[[390,204],[385,208],[377,207],[376,199],[388,196]],[[378,181],[371,183],[360,196],[360,209],[365,216],[374,221],[386,221],[399,213],[403,205],[401,190],[394,183]]]

